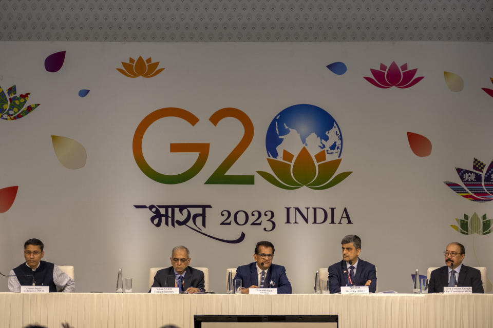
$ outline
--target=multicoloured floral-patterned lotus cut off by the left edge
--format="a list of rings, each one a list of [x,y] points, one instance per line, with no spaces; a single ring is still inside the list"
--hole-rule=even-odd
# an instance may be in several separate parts
[[[26,116],[40,104],[29,105],[25,109],[27,99],[30,93],[24,93],[16,96],[15,85],[7,90],[8,98],[4,90],[0,87],[0,118],[5,120],[14,120]]]

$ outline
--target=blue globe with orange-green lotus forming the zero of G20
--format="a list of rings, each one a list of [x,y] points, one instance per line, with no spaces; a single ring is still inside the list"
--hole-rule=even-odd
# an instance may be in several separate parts
[[[277,114],[267,130],[266,149],[275,176],[257,173],[282,189],[324,190],[352,173],[332,178],[342,160],[342,135],[334,118],[313,105],[294,105]]]

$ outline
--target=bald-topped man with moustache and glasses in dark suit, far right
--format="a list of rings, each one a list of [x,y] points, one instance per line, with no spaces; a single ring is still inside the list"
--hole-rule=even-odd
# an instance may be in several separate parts
[[[428,293],[443,293],[444,286],[472,287],[472,293],[484,293],[481,272],[462,264],[466,254],[463,244],[451,242],[443,254],[447,266],[431,272]]]

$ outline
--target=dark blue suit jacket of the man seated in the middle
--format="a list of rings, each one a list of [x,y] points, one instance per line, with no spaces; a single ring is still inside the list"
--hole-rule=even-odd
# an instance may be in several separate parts
[[[257,262],[240,265],[236,269],[234,279],[241,279],[241,286],[244,288],[249,288],[251,285],[258,286]],[[285,267],[271,264],[269,270],[267,270],[266,288],[277,288],[278,294],[291,294],[291,282],[286,276]]]

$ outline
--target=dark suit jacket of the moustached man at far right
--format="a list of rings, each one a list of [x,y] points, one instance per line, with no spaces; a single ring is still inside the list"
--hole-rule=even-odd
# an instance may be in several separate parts
[[[478,269],[467,267],[462,264],[459,272],[459,287],[472,287],[472,293],[484,293],[481,272]],[[448,267],[431,271],[430,281],[428,282],[428,293],[443,293],[443,288],[448,286]]]

